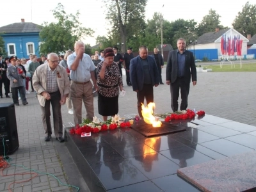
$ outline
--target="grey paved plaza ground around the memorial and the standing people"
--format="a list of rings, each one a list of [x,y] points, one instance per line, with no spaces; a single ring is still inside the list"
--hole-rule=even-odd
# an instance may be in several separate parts
[[[163,69],[165,74],[165,68]],[[125,76],[124,76],[125,78]],[[163,75],[165,79],[165,75]],[[207,114],[220,116],[244,124],[256,126],[256,72],[208,72],[198,73],[198,84],[191,86],[189,92],[189,109],[204,110]],[[136,93],[127,87],[124,79],[125,97],[119,99],[120,116],[136,114]],[[14,164],[24,165],[39,172],[52,173],[63,183],[81,188],[81,191],[90,191],[80,177],[74,160],[65,147],[54,136],[52,141],[44,141],[41,111],[38,100],[33,93],[27,95],[28,106],[15,106],[17,128],[19,131],[19,149],[12,154]],[[154,88],[156,113],[170,112],[170,88],[166,84]],[[12,99],[3,98],[0,102],[12,102]],[[21,101],[20,101],[21,103]],[[99,116],[97,97],[94,99],[95,115]],[[73,116],[68,114],[67,106],[63,106],[63,124],[70,127]],[[83,108],[83,116],[85,109]],[[100,116],[99,116],[100,117]],[[23,168],[11,166],[8,174],[26,172]],[[1,177],[0,191],[7,192],[8,185],[13,180],[27,179],[28,175]],[[56,179],[49,175],[38,174],[35,179],[15,184],[15,192],[29,191],[76,191],[74,188],[61,186]]]

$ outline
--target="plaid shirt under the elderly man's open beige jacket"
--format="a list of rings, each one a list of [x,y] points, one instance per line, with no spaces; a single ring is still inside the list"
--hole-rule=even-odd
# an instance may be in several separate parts
[[[51,68],[47,67],[47,81],[46,81],[46,87],[48,93],[54,93],[59,90],[58,83],[57,83],[57,74],[56,74],[56,68],[54,71],[51,70]]]

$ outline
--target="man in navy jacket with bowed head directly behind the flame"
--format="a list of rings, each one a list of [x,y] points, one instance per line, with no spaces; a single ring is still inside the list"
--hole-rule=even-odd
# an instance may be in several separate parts
[[[132,89],[137,93],[138,113],[141,114],[141,103],[146,98],[147,104],[154,102],[153,86],[159,85],[158,70],[153,56],[148,56],[145,45],[139,47],[139,55],[131,60],[130,77]]]

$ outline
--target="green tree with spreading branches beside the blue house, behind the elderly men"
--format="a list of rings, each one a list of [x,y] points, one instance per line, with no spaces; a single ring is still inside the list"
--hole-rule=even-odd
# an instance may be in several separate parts
[[[52,10],[54,18],[57,22],[44,22],[40,31],[40,41],[44,42],[40,45],[40,52],[62,52],[68,49],[74,49],[74,43],[81,40],[84,36],[92,36],[94,33],[90,28],[81,27],[79,22],[80,13],[76,15],[67,14],[61,3]]]

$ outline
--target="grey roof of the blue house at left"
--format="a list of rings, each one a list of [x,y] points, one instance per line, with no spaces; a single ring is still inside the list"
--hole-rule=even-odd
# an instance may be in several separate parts
[[[40,32],[40,25],[33,22],[15,22],[0,28],[0,33],[36,33]]]

